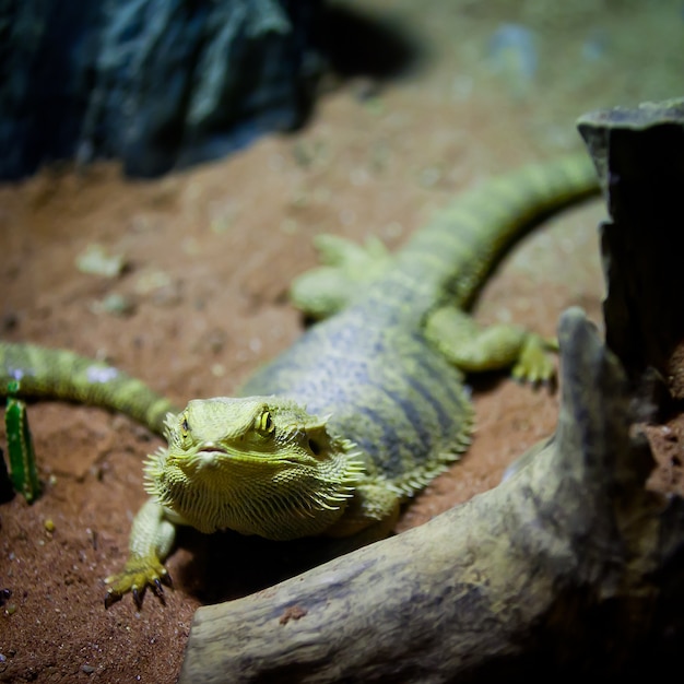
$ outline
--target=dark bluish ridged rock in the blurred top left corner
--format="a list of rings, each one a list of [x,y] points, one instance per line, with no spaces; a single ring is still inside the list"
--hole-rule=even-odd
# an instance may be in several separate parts
[[[156,176],[305,119],[322,0],[1,0],[0,178]]]

